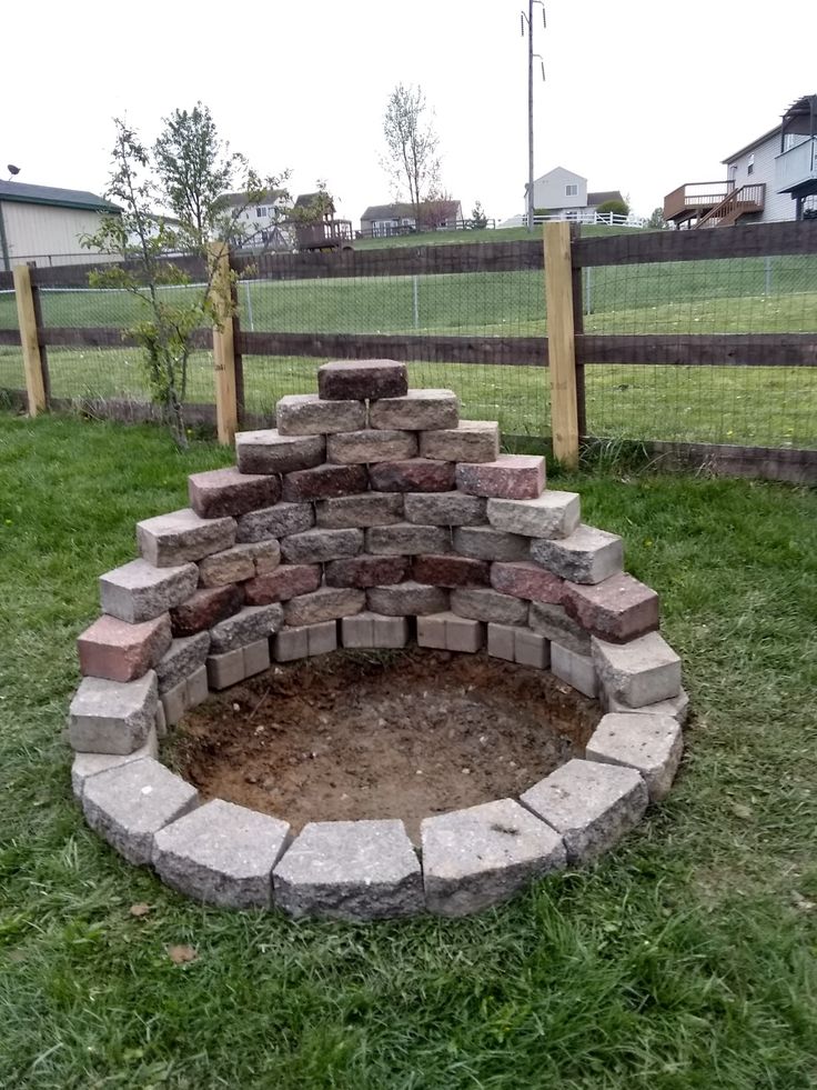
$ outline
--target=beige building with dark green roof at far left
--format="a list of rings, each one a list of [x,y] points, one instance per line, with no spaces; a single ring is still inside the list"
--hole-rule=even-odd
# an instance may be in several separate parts
[[[101,217],[110,213],[120,209],[94,193],[0,181],[0,269],[29,261],[98,263],[99,254],[83,250],[80,239],[99,230]]]

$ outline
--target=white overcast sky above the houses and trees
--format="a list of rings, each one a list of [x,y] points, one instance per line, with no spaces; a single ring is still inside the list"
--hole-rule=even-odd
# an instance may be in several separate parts
[[[524,0],[524,7],[527,2]],[[293,193],[326,179],[355,221],[392,199],[380,160],[399,82],[434,108],[443,183],[470,214],[523,211],[527,44],[520,0],[244,0],[7,6],[0,170],[101,192],[111,118],[152,140],[174,108],[205,102],[262,173]],[[534,18],[535,176],[562,166],[648,214],[685,181],[817,92],[814,0],[546,0]],[[3,178],[8,177],[6,172]]]

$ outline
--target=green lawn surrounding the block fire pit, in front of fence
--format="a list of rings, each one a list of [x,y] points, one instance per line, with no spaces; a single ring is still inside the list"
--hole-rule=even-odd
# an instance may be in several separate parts
[[[84,826],[61,738],[98,574],[230,460],[0,413],[0,1086],[817,1086],[817,493],[555,478],[662,596],[693,702],[669,799],[596,867],[472,919],[293,923],[123,862]]]

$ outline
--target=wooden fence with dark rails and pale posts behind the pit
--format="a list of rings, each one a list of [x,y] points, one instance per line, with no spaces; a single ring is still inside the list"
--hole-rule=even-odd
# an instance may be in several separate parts
[[[412,361],[543,367],[549,370],[554,453],[575,464],[587,440],[585,369],[596,364],[662,364],[667,367],[817,367],[817,332],[789,333],[585,333],[582,313],[582,270],[601,266],[742,259],[785,254],[817,254],[817,221],[758,224],[702,231],[656,231],[581,238],[565,222],[548,223],[541,239],[432,247],[404,247],[341,253],[234,254],[239,273],[252,271],[263,280],[309,280],[361,277],[435,276],[544,269],[547,337],[471,337],[380,333],[251,332],[233,319],[232,336],[215,341],[215,401],[219,434],[232,441],[243,419],[241,403],[243,356],[303,356],[332,359],[380,357]],[[175,260],[179,264],[179,260]],[[201,259],[185,259],[193,277],[204,277]],[[117,329],[44,327],[38,289],[85,287],[89,267],[28,269],[13,278],[0,273],[0,289],[13,286],[20,330],[0,330],[1,344],[21,344],[28,409],[48,404],[48,346],[121,347],[132,343]],[[226,282],[224,280],[224,282]],[[817,288],[817,284],[815,286]],[[816,322],[817,324],[817,322]],[[212,334],[196,334],[210,347]],[[683,461],[705,462],[715,470],[787,480],[817,480],[817,451],[705,443],[648,444]]]

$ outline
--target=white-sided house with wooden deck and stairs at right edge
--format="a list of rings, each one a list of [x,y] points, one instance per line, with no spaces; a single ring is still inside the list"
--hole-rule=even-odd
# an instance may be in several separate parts
[[[779,124],[722,161],[726,178],[667,193],[664,219],[694,228],[808,217],[817,209],[817,94],[794,101]]]

